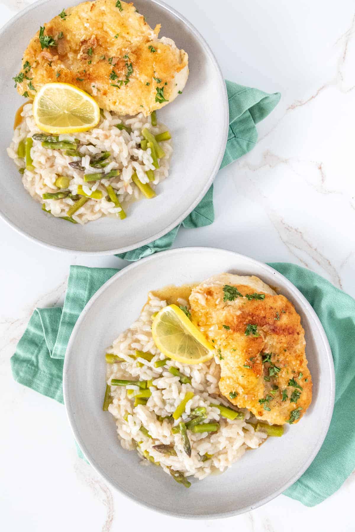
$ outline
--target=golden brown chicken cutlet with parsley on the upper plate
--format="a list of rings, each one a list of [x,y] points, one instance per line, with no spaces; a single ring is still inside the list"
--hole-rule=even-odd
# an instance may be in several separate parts
[[[148,116],[172,102],[188,77],[186,52],[171,39],[158,39],[159,30],[131,3],[96,0],[69,7],[30,41],[18,92],[34,97],[46,83],[65,82],[103,109]]]

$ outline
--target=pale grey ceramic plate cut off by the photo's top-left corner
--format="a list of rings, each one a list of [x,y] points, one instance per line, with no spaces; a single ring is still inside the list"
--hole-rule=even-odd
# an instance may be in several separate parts
[[[113,1],[113,0],[112,0]],[[78,4],[77,0],[72,4]],[[158,186],[154,200],[129,206],[126,220],[102,218],[82,227],[47,217],[41,205],[24,190],[21,176],[6,147],[12,139],[13,119],[23,98],[13,76],[39,27],[58,11],[57,0],[32,4],[0,32],[0,94],[2,131],[0,216],[34,242],[61,251],[113,254],[133,250],[173,229],[201,201],[220,167],[228,135],[228,99],[224,79],[209,46],[182,15],[158,0],[135,0],[151,26],[162,24],[161,36],[175,40],[189,55],[190,74],[183,95],[159,111],[159,120],[172,134],[169,177]]]

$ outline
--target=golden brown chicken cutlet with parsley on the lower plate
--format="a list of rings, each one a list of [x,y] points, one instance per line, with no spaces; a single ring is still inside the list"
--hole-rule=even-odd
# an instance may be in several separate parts
[[[219,389],[238,408],[276,425],[296,423],[312,400],[299,314],[258,277],[222,273],[189,297],[191,319],[216,347]]]

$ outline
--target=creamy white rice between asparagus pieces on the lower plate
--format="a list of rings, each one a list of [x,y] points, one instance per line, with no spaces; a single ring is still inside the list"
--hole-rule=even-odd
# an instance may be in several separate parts
[[[152,314],[166,305],[166,301],[149,294],[148,302],[138,320],[122,332],[106,350],[124,359],[124,362],[107,364],[107,384],[110,385],[112,379],[153,381],[153,386],[150,387],[151,396],[146,405],[137,405],[135,408],[134,397],[128,396],[126,387],[111,386],[112,403],[109,405],[109,411],[115,418],[122,447],[136,449],[144,459],[142,463],[158,462],[166,473],[170,473],[171,468],[180,471],[185,477],[203,479],[213,471],[225,471],[241,458],[248,448],[259,447],[267,436],[255,431],[250,423],[246,423],[246,420],[250,419],[248,411],[242,411],[243,420],[232,421],[221,417],[219,409],[210,406],[214,403],[230,407],[228,401],[219,395],[220,368],[217,358],[193,365],[168,360],[163,367],[155,368],[154,362],[165,357],[156,348],[152,338]],[[135,350],[150,352],[154,358],[151,362],[136,358]],[[168,371],[170,367],[177,368],[190,377],[191,385],[181,384],[179,377]],[[138,390],[135,386],[128,388]],[[203,406],[207,409],[205,422],[217,421],[220,425],[216,433],[193,434],[188,431],[192,448],[191,458],[184,452],[180,434],[171,433],[171,428],[178,425],[178,421],[172,419],[171,415],[186,392],[193,392],[194,397],[186,404],[181,418],[183,421],[191,419],[192,409]],[[158,417],[169,419],[160,421]],[[142,433],[142,426],[148,430],[151,438]],[[177,456],[156,451],[153,446],[158,444],[174,445]]]

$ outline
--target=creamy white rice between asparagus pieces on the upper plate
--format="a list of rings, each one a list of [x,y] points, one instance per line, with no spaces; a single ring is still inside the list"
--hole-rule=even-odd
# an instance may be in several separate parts
[[[169,161],[172,153],[171,140],[160,143],[166,156],[159,160],[159,169],[155,169],[153,166],[151,149],[147,148],[144,151],[140,146],[143,139],[141,134],[143,128],[147,128],[153,135],[157,135],[167,131],[168,128],[164,124],[158,122],[153,127],[151,119],[145,118],[142,113],[133,118],[119,117],[109,111],[103,111],[102,114],[103,116],[96,128],[83,133],[60,135],[59,137],[59,140],[68,140],[70,142],[78,139],[80,141],[78,150],[82,157],[66,156],[63,154],[63,150],[44,148],[40,140],[34,140],[31,148],[31,157],[35,169],[33,171],[24,170],[22,176],[23,186],[36,201],[44,203],[46,210],[51,211],[51,214],[56,217],[66,216],[69,207],[75,203],[69,197],[61,200],[43,200],[42,195],[44,193],[59,192],[59,189],[54,184],[58,176],[71,178],[69,188],[64,190],[73,195],[77,194],[79,185],[82,186],[86,194],[90,194],[90,189],[101,190],[102,192],[101,200],[90,199],[72,215],[72,218],[81,224],[97,220],[102,216],[118,216],[121,209],[109,201],[107,191],[104,188],[105,185],[112,186],[123,209],[126,210],[130,201],[139,200],[143,197],[131,179],[134,172],[137,173],[142,183],[148,183],[149,180],[145,172],[154,170],[154,181],[149,182],[153,189],[160,181],[168,177]],[[25,140],[36,133],[43,133],[36,127],[31,103],[24,105],[21,116],[23,119],[15,129],[11,145],[7,148],[7,153],[19,169],[24,168],[24,160],[17,155],[19,143],[21,140]],[[129,126],[132,132],[129,133],[126,130],[118,129],[115,127],[117,124]],[[90,167],[90,156],[105,151],[111,153],[111,156],[105,161],[109,164],[102,170]],[[84,167],[84,171],[76,170],[69,165],[70,162],[74,161],[79,162]],[[84,174],[86,173],[101,171],[106,173],[115,169],[120,171],[117,177],[100,181],[84,181]]]

